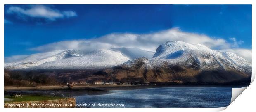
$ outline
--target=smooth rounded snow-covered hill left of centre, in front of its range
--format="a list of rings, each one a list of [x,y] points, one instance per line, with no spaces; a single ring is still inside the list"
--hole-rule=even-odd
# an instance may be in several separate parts
[[[129,58],[112,50],[95,50],[80,57],[47,62],[31,69],[99,69],[127,62]]]

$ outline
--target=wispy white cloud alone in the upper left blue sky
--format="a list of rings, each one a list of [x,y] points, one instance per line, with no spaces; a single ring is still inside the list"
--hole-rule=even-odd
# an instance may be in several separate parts
[[[21,7],[9,7],[7,10],[9,14],[22,14],[33,18],[46,18],[49,20],[55,20],[57,18],[64,18],[64,17],[73,17],[77,16],[76,12],[74,11],[63,11],[60,12],[57,9],[51,9],[50,7],[43,6],[43,5],[33,5],[30,9],[23,9]]]

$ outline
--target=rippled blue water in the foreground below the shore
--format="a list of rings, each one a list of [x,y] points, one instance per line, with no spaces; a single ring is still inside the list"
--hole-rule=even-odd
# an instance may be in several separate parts
[[[76,103],[95,103],[95,107],[101,107],[97,104],[123,104],[123,107],[225,107],[231,101],[230,87],[163,87],[111,92],[76,96]]]

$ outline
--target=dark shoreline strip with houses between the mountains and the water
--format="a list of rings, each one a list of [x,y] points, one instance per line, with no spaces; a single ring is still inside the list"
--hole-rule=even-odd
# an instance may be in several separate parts
[[[194,88],[194,87],[228,87],[230,86],[173,86],[173,85],[93,85],[93,86],[73,86],[72,88],[62,86],[38,86],[38,87],[5,87],[5,95],[8,94],[22,94],[22,95],[50,95],[61,97],[73,97],[83,95],[102,95],[113,93],[112,90],[136,90],[136,89],[149,89],[149,88]]]

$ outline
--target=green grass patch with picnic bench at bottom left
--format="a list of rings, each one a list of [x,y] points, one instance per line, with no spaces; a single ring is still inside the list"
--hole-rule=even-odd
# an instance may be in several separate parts
[[[60,97],[60,96],[45,96],[45,95],[24,95],[19,98],[14,98],[9,96],[9,95],[5,95],[5,98],[8,99],[12,99],[12,101],[5,101],[5,103],[7,102],[20,102],[20,101],[44,101],[44,100],[55,100],[55,99],[60,99],[60,98],[65,98],[65,97]]]

